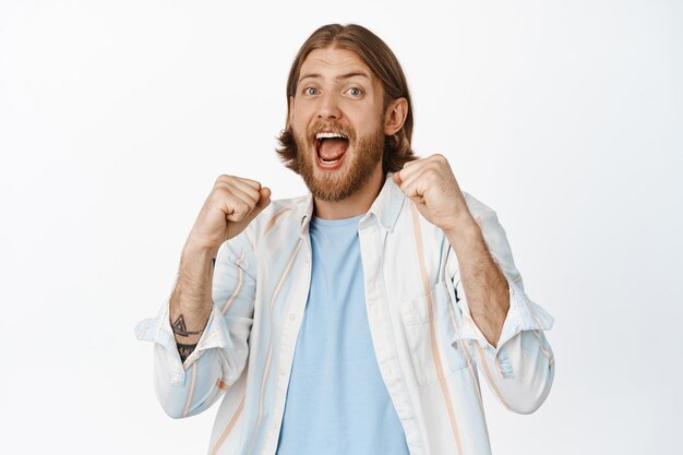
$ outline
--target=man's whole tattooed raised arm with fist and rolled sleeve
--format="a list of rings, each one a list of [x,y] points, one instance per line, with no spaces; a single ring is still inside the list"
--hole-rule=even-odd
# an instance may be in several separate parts
[[[208,408],[244,368],[255,274],[251,244],[238,235],[268,202],[257,182],[220,176],[188,238],[169,303],[136,328],[155,343],[155,388],[171,417]]]

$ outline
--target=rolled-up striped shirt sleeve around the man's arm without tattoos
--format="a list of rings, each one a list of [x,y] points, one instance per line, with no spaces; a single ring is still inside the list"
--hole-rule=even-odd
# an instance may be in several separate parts
[[[455,271],[457,264],[448,264],[453,270],[454,301],[463,315],[462,325],[452,342],[469,347],[493,394],[506,408],[530,414],[544,402],[554,378],[554,356],[543,333],[552,327],[554,321],[526,295],[505,230],[495,212],[469,195],[467,200],[491,256],[507,282],[510,309],[499,343],[493,347],[471,316],[465,289]]]

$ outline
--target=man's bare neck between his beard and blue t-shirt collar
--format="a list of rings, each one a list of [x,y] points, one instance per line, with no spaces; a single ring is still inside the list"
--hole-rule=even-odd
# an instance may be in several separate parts
[[[367,213],[384,185],[382,166],[378,166],[366,184],[342,201],[315,199],[315,216],[323,219],[344,219]]]

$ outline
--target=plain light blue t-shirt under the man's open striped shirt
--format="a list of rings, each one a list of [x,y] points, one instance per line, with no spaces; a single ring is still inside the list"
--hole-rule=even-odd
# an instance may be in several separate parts
[[[370,336],[361,217],[311,220],[311,287],[277,455],[409,453]]]

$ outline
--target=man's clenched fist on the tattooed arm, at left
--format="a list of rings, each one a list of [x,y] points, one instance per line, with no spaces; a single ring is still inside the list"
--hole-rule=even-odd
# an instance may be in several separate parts
[[[254,180],[219,176],[190,232],[194,248],[218,249],[271,203],[271,190]]]

